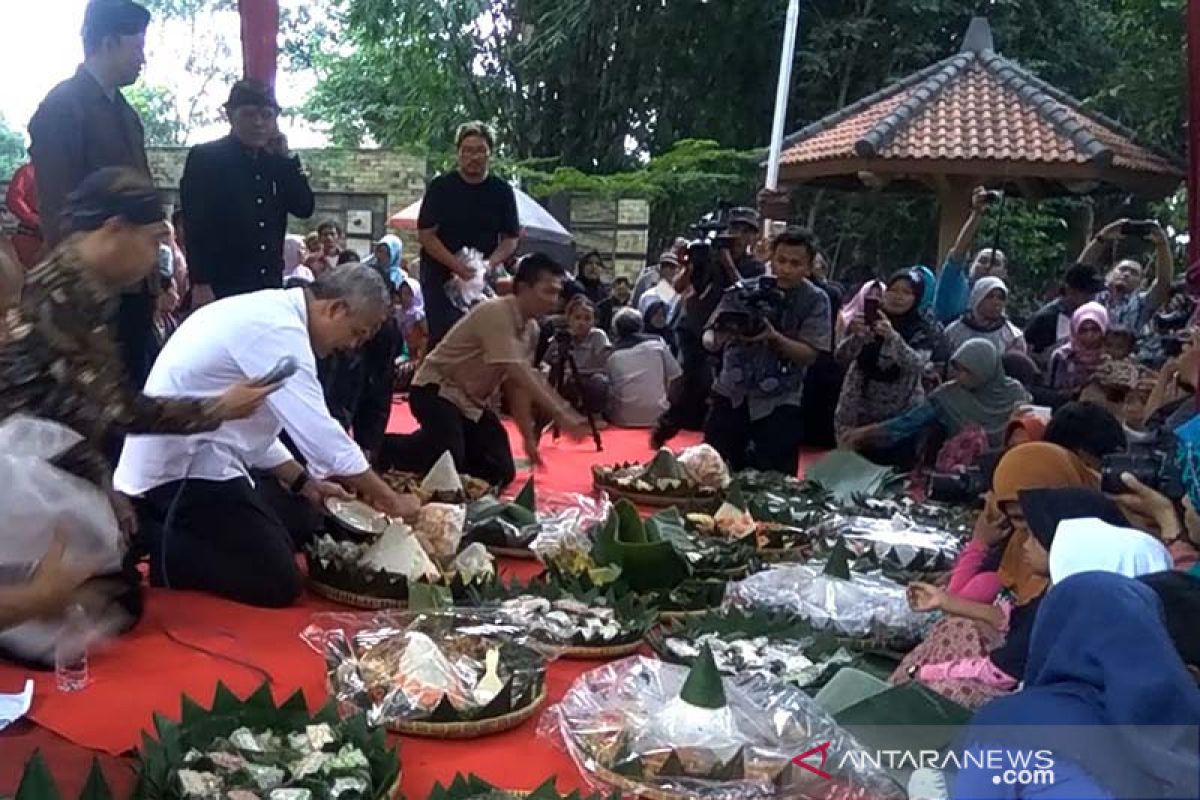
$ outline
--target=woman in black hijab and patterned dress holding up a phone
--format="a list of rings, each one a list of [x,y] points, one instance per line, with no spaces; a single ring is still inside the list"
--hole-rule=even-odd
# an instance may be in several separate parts
[[[919,272],[898,272],[888,281],[874,325],[862,313],[851,320],[834,353],[838,363],[847,367],[834,414],[838,437],[899,416],[925,399],[925,366],[944,361],[948,351],[941,325],[920,309],[923,293]],[[894,467],[911,467],[916,457],[916,449],[905,446],[863,452]]]

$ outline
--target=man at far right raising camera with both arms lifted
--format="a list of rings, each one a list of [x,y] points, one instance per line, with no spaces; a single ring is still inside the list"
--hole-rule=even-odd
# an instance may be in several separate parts
[[[1141,335],[1154,313],[1171,294],[1175,259],[1171,242],[1163,227],[1152,219],[1117,219],[1105,225],[1079,255],[1080,264],[1098,266],[1105,249],[1116,252],[1121,241],[1152,241],[1154,243],[1154,281],[1142,289],[1145,275],[1139,261],[1127,258],[1116,263],[1104,278],[1104,290],[1096,301],[1109,312],[1109,323]]]

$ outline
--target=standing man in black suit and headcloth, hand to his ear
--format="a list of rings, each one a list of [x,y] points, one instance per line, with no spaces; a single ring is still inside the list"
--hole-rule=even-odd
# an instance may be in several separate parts
[[[288,215],[312,216],[300,158],[277,125],[274,90],[239,80],[226,103],[230,133],[192,148],[180,181],[192,303],[278,289]]]

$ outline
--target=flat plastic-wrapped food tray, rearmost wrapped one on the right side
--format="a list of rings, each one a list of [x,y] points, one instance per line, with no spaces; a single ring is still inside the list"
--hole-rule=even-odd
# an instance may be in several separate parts
[[[833,515],[810,533],[818,546],[828,548],[841,540],[856,557],[871,554],[876,563],[901,570],[948,570],[962,549],[958,536],[901,515],[888,519]]]

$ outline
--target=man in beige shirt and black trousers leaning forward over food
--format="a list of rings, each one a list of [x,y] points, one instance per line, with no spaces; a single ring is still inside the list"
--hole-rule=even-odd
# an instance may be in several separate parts
[[[575,437],[589,433],[576,414],[533,368],[538,318],[552,313],[565,270],[550,257],[521,259],[515,294],[482,302],[446,333],[413,378],[409,407],[421,427],[386,437],[380,469],[421,471],[449,451],[460,473],[506,486],[516,475],[508,433],[494,408],[502,387],[529,461],[540,464],[533,407]]]

